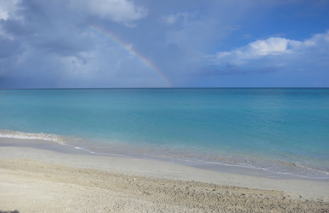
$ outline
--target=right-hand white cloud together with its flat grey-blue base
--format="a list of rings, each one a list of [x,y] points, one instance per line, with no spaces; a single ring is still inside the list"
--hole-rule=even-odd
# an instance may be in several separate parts
[[[205,66],[199,75],[248,73],[300,73],[327,75],[329,67],[329,30],[305,40],[269,37],[250,42],[231,51],[204,55]],[[325,74],[327,73],[327,74]],[[308,75],[311,73],[308,72]],[[312,74],[311,74],[312,75]]]

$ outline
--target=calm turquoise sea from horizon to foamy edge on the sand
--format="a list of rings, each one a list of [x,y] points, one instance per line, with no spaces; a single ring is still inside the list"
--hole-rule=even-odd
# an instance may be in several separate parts
[[[0,137],[329,178],[329,89],[0,90]]]

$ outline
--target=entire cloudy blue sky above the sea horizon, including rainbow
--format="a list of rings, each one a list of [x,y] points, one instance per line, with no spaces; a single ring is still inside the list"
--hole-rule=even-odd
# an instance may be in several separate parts
[[[329,87],[329,0],[0,0],[0,89]]]

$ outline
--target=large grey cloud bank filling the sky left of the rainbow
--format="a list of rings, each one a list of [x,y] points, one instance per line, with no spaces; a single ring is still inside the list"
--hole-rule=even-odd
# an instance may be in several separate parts
[[[87,3],[91,4],[81,1],[83,6]],[[99,3],[113,5],[115,1]],[[146,9],[129,1],[116,3],[119,11],[113,13],[106,8],[97,13],[92,8],[83,14],[61,0],[17,1],[8,10],[0,7],[8,11],[0,20],[0,88],[167,86],[128,53],[134,48],[132,42],[121,48],[106,33],[86,24],[91,18],[104,31],[106,27],[135,30],[124,25],[142,18]]]

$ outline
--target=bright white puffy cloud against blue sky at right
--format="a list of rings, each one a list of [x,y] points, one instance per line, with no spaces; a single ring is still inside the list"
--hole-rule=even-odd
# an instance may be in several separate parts
[[[241,73],[262,67],[291,68],[328,66],[329,30],[314,34],[309,39],[291,40],[283,37],[269,37],[249,43],[248,45],[227,52],[218,52],[213,56],[203,57],[222,73],[227,64],[235,65]],[[311,63],[312,61],[312,63]],[[297,69],[297,68],[296,68]],[[274,69],[273,69],[274,70]],[[255,71],[255,70],[254,70]]]

